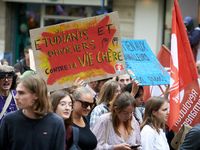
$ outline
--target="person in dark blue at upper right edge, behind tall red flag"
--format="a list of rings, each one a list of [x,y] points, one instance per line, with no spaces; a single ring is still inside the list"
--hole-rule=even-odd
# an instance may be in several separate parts
[[[193,20],[191,17],[185,17],[184,24],[187,29],[188,39],[190,41],[190,45],[192,48],[192,53],[194,56],[194,60],[196,62],[197,52],[199,48],[199,40],[200,40],[200,28],[194,28]]]

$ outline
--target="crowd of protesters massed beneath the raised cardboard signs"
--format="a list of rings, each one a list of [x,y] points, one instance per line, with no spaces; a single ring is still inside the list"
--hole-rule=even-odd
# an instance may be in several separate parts
[[[1,150],[169,150],[168,100],[129,74],[48,92],[25,58],[0,65]]]

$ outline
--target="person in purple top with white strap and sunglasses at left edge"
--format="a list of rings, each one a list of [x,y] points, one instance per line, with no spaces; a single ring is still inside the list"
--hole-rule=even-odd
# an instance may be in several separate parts
[[[7,65],[0,66],[0,125],[3,117],[11,112],[17,110],[14,96],[17,75],[14,68]]]

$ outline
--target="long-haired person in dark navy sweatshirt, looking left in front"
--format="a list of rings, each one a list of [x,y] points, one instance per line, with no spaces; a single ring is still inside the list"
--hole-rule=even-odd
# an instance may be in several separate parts
[[[39,75],[26,76],[18,80],[16,91],[20,110],[2,121],[1,150],[64,150],[64,122],[52,113],[45,81]]]

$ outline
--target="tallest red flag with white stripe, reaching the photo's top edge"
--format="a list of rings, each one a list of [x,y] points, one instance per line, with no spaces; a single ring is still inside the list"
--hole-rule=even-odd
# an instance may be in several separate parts
[[[198,73],[177,0],[174,0],[171,30],[170,114],[169,129],[180,114],[180,92],[196,80]]]

